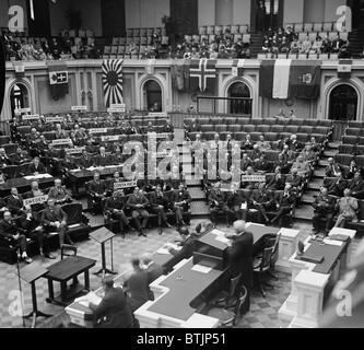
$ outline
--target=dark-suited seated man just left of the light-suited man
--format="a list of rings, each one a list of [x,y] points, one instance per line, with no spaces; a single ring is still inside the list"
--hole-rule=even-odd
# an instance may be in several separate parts
[[[325,233],[328,234],[332,226],[332,219],[334,214],[336,201],[332,197],[328,196],[328,190],[326,187],[320,188],[320,194],[315,198],[313,207],[315,209],[315,214],[313,218],[314,233],[319,232],[320,219],[325,219]]]

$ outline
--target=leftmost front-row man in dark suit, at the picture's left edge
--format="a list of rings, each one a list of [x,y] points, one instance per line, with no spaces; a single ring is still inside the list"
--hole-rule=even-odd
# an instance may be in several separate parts
[[[19,228],[13,222],[9,210],[4,211],[3,219],[0,221],[0,235],[8,238],[10,244],[13,245],[13,242],[15,243],[16,247],[19,247],[19,259],[24,259],[27,264],[32,262],[32,259],[26,254],[26,236],[20,233]]]

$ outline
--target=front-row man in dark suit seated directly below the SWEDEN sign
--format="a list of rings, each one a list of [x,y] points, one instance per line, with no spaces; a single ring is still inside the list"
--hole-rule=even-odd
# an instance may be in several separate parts
[[[20,229],[28,238],[35,238],[38,241],[42,256],[48,259],[55,259],[55,257],[49,254],[48,235],[42,226],[38,213],[32,211],[31,206],[25,206],[24,209],[24,213],[19,219]]]

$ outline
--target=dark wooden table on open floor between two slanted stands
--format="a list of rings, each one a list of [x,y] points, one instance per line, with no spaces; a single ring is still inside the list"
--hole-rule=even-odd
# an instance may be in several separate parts
[[[48,303],[67,305],[67,302],[83,290],[90,290],[89,270],[96,265],[96,260],[84,258],[82,256],[71,256],[60,260],[47,268],[48,275]],[[77,285],[74,289],[67,291],[67,282],[79,275],[84,273],[84,287]],[[55,298],[54,281],[60,282],[60,296]]]

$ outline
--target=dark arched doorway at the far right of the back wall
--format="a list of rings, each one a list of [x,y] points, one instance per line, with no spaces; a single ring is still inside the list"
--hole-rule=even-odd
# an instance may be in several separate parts
[[[330,93],[329,119],[355,120],[357,112],[357,93],[348,84],[340,84]]]

